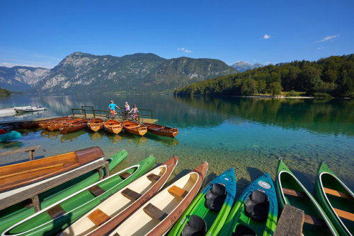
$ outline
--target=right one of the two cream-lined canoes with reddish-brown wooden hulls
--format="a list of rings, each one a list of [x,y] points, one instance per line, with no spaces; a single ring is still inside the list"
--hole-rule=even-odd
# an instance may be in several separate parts
[[[207,172],[206,162],[159,191],[118,225],[110,235],[163,235],[176,223],[198,193],[205,172]]]

